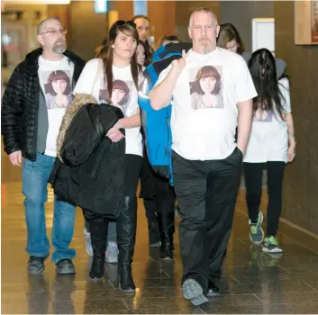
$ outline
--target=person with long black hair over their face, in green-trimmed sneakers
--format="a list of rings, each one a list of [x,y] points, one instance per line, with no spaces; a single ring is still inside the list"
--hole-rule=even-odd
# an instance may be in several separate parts
[[[275,58],[268,49],[255,51],[249,60],[250,74],[258,92],[253,99],[253,122],[243,160],[246,202],[250,217],[250,240],[261,244],[263,214],[259,211],[264,165],[268,171],[267,233],[263,251],[281,253],[277,242],[282,209],[283,175],[287,162],[295,158],[295,134],[289,82],[277,80]]]

